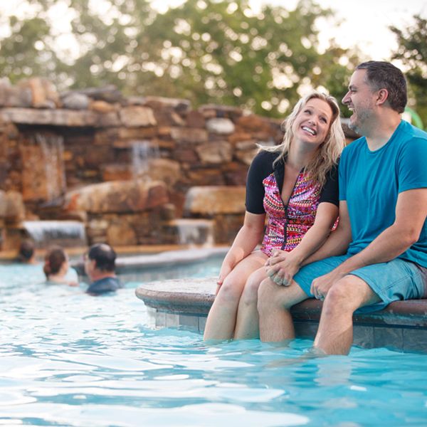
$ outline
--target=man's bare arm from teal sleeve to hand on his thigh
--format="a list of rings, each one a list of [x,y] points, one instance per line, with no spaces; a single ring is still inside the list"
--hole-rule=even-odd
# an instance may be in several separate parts
[[[348,258],[331,273],[313,280],[312,293],[326,295],[332,283],[350,271],[366,265],[386,263],[397,258],[418,241],[426,216],[427,189],[403,191],[397,198],[394,223],[379,234],[363,251]]]

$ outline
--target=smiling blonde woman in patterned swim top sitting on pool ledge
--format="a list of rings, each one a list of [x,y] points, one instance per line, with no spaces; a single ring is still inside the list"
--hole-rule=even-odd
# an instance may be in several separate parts
[[[285,120],[282,144],[260,147],[246,181],[245,220],[223,260],[204,339],[259,336],[260,282],[269,275],[288,285],[337,220],[344,144],[337,101],[313,92]]]

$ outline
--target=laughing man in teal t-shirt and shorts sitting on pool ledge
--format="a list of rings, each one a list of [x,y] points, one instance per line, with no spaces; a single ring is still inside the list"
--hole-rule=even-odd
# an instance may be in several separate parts
[[[315,349],[348,354],[355,310],[427,297],[427,133],[401,120],[406,101],[404,75],[391,63],[354,71],[342,102],[363,137],[339,162],[339,225],[289,286],[261,283],[263,341],[294,337],[290,307],[315,297],[325,300]],[[273,265],[268,274],[283,271]]]

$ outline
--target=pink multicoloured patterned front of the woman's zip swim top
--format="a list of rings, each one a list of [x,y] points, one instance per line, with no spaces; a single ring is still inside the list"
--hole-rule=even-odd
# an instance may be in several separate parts
[[[263,179],[263,206],[268,223],[261,251],[270,256],[273,249],[292,251],[315,223],[321,186],[300,172],[285,205],[274,172]]]

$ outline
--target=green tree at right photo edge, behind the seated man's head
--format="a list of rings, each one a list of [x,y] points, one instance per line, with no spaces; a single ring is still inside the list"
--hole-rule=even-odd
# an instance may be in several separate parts
[[[427,129],[427,19],[413,16],[413,26],[405,31],[390,27],[397,36],[399,48],[393,59],[399,59],[408,68],[406,78],[411,95],[410,107],[416,110]]]

